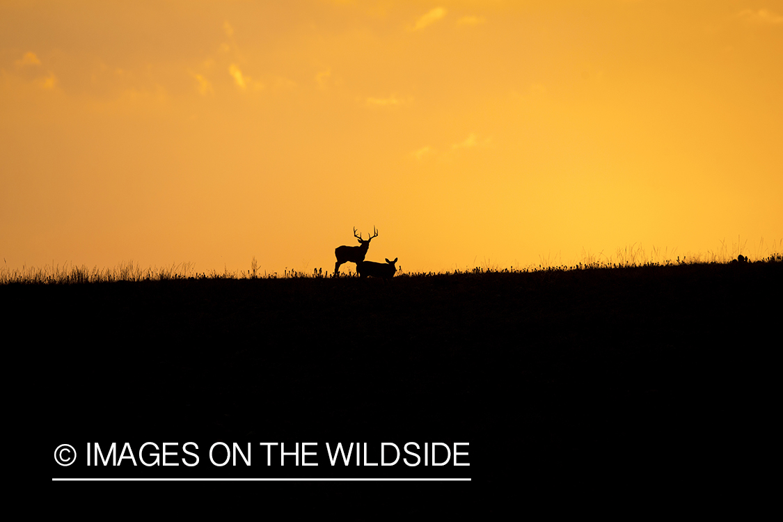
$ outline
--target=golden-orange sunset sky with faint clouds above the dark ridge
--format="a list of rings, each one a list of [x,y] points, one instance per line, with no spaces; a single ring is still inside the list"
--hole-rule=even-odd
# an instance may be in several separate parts
[[[0,0],[0,257],[753,254],[781,122],[783,0]]]

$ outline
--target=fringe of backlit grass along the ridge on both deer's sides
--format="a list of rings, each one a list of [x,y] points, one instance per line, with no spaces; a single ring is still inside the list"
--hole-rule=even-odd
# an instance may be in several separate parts
[[[748,247],[748,241],[740,241],[727,246],[726,241],[720,242],[716,250],[707,250],[706,254],[678,254],[677,249],[669,251],[652,247],[647,250],[640,243],[633,243],[629,247],[619,248],[614,254],[606,255],[603,251],[593,254],[589,250],[582,251],[579,261],[572,261],[566,265],[561,261],[561,255],[554,258],[550,254],[541,257],[539,265],[522,267],[513,265],[500,266],[485,259],[481,265],[474,268],[466,267],[464,270],[456,268],[446,272],[403,272],[398,267],[396,277],[414,277],[431,275],[456,275],[456,274],[488,274],[488,273],[523,273],[542,271],[568,271],[568,270],[592,270],[599,268],[631,268],[643,266],[671,266],[671,265],[706,265],[728,264],[737,262],[738,256],[747,258],[748,262],[780,263],[783,262],[783,240],[765,243],[763,239],[757,245]],[[244,271],[223,272],[212,270],[211,272],[197,272],[194,263],[179,263],[161,268],[141,268],[133,261],[121,263],[114,268],[88,268],[87,265],[45,265],[41,268],[23,266],[22,268],[8,268],[8,265],[0,266],[0,285],[12,283],[22,284],[78,284],[78,283],[113,283],[117,281],[165,281],[174,279],[326,279],[334,277],[323,268],[316,268],[312,273],[298,272],[285,268],[283,274],[278,272],[262,272],[258,268],[258,261],[253,257],[251,268]],[[340,275],[341,278],[355,278],[357,274],[348,268],[347,272]]]

